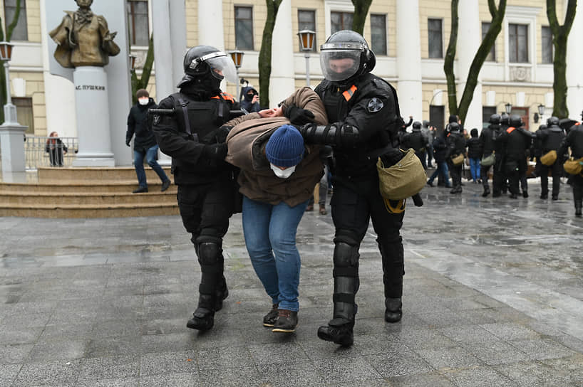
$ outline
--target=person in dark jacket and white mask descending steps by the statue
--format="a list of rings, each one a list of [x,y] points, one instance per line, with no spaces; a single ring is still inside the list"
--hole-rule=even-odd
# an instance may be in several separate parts
[[[156,137],[150,124],[148,122],[148,109],[155,109],[156,103],[148,90],[140,89],[135,92],[138,98],[138,103],[133,105],[128,115],[128,131],[125,132],[125,144],[130,147],[130,142],[135,134],[133,143],[133,164],[135,166],[135,174],[138,176],[138,189],[133,191],[133,194],[141,194],[148,192],[148,181],[146,181],[144,171],[144,158],[148,165],[158,174],[162,181],[162,189],[166,191],[170,186],[170,179],[166,176],[164,170],[158,164],[158,144]]]

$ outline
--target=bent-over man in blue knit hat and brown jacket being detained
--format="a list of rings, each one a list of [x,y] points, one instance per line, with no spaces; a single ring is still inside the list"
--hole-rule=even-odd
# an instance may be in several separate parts
[[[285,117],[284,117],[285,116]],[[324,166],[320,146],[306,147],[301,120],[327,122],[324,105],[310,88],[279,107],[227,122],[226,160],[238,166],[243,194],[243,233],[253,268],[271,299],[263,319],[273,332],[295,332],[299,310],[300,256],[296,231]]]

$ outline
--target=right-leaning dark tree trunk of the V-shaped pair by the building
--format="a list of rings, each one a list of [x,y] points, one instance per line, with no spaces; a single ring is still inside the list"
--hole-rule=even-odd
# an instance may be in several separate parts
[[[490,28],[484,36],[482,44],[478,48],[478,52],[474,56],[472,65],[470,65],[470,70],[468,71],[468,80],[466,80],[465,87],[463,89],[462,99],[460,100],[460,105],[458,107],[458,115],[460,120],[465,122],[465,116],[468,115],[468,109],[470,108],[470,103],[472,103],[474,90],[476,85],[478,85],[478,75],[480,75],[480,70],[488,53],[494,46],[496,37],[502,30],[502,21],[504,20],[504,14],[506,12],[506,0],[500,0],[498,8],[494,4],[494,0],[488,0],[488,6],[490,7],[490,15],[492,15],[492,22],[490,23]]]

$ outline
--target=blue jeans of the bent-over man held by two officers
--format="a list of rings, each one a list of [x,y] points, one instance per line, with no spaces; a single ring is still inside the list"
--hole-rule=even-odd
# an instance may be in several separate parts
[[[272,304],[294,312],[299,310],[301,264],[296,232],[307,205],[272,205],[243,196],[243,234],[255,273]]]

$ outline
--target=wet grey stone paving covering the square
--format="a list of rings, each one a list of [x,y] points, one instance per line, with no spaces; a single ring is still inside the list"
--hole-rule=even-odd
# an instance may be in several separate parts
[[[270,302],[240,215],[225,238],[229,297],[185,327],[200,272],[180,217],[0,218],[0,386],[583,386],[583,220],[559,201],[426,188],[408,204],[403,320],[383,321],[380,256],[361,245],[355,344],[331,317],[330,215],[306,213],[296,334]]]

